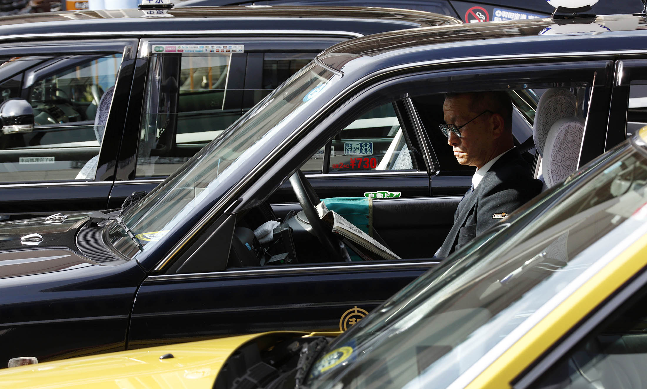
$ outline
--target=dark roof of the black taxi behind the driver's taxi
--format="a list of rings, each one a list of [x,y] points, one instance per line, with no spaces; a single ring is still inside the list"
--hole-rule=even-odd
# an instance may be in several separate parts
[[[142,10],[81,10],[0,17],[0,40],[38,34],[111,33],[115,36],[212,30],[342,30],[359,35],[461,23],[459,19],[397,8],[222,6],[173,8],[167,17]],[[278,23],[278,20],[281,20]],[[336,22],[336,23],[332,23]],[[328,27],[330,26],[330,27]],[[343,29],[340,28],[343,26]],[[103,34],[105,35],[105,34]]]

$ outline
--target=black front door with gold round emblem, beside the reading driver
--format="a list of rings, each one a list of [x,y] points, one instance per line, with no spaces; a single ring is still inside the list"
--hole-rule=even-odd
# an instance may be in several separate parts
[[[562,61],[531,65],[499,63],[496,67],[484,65],[451,69],[438,74],[417,74],[401,78],[397,83],[384,85],[397,88],[397,94],[400,96],[403,89],[410,88],[411,98],[443,98],[448,90],[539,90],[551,85],[561,85],[562,89],[580,97],[597,98],[595,96],[600,89],[604,91],[608,87],[604,75],[611,71],[611,65],[610,61]],[[431,78],[433,83],[429,82]],[[428,82],[426,87],[424,82]],[[353,98],[353,104],[345,105],[325,118],[320,118],[311,131],[330,133],[332,137],[329,139],[332,141],[358,118],[362,120],[367,112],[384,104],[395,102],[396,106],[406,107],[408,104],[412,107],[411,102],[407,103],[408,98],[399,97],[389,101],[389,98],[385,97],[389,96],[389,89],[384,88],[384,91],[371,89],[370,92],[360,93]],[[376,94],[380,97],[374,97]],[[357,108],[358,106],[362,108]],[[593,112],[590,104],[583,105],[583,108],[582,114],[587,116],[587,121],[596,123],[587,129],[590,128],[592,132],[598,131],[600,118],[597,115],[604,116],[608,111]],[[410,112],[415,114],[415,107]],[[606,129],[606,123],[602,127]],[[418,129],[421,130],[422,127]],[[276,160],[271,163],[275,163],[277,167],[299,164],[306,166],[311,163],[307,156],[313,155],[329,143],[327,140],[323,142],[325,143],[318,145],[308,140],[294,141],[294,152],[276,156]],[[327,149],[326,147],[324,152]],[[377,151],[377,148],[375,150]],[[398,154],[403,158],[413,154],[411,162],[415,160],[415,154],[411,150],[403,151],[400,148]],[[302,156],[306,156],[307,159],[297,161]],[[352,158],[358,157],[353,154]],[[362,156],[362,163],[364,158]],[[333,164],[339,163],[347,162],[340,159]],[[267,180],[265,184],[254,185],[272,187],[270,180],[280,182],[281,179],[284,178],[267,174],[263,178]],[[236,240],[238,235],[235,235],[234,231],[240,227],[247,230],[239,231],[251,233],[269,217],[269,213],[262,212],[261,216],[257,215],[256,219],[250,220],[248,215],[251,215],[252,211],[245,208],[245,201],[249,201],[245,199],[254,198],[254,204],[258,204],[259,197],[263,196],[269,195],[250,193],[241,196],[242,201],[228,205],[227,213],[210,222],[208,227],[205,225],[193,235],[190,242],[185,242],[183,245],[186,249],[183,248],[181,253],[176,252],[177,257],[171,256],[157,264],[157,268],[153,270],[155,274],[151,273],[138,289],[129,330],[130,347],[159,342],[154,339],[170,342],[249,331],[343,330],[352,324],[347,322],[347,319],[355,319],[355,322],[361,319],[362,315],[377,306],[386,296],[395,293],[422,271],[437,263],[438,260],[432,256],[444,240],[446,231],[443,231],[445,227],[435,227],[435,223],[451,226],[453,222],[453,218],[438,220],[437,215],[443,207],[455,206],[455,203],[448,202],[446,196],[375,198],[375,229],[397,255],[405,258],[402,260],[312,264],[304,263],[308,260],[305,258],[302,263],[278,266],[232,266],[233,262],[230,263],[228,258],[237,250],[230,251],[230,247],[235,247],[236,242],[243,245],[241,241]],[[455,202],[458,200],[459,198]],[[453,209],[450,210],[453,213]],[[383,219],[381,222],[380,218]],[[402,225],[415,226],[409,227],[409,230],[404,229],[407,233],[415,231],[415,235],[402,235],[401,231],[393,226],[389,229],[389,223],[396,219]],[[505,224],[498,225],[503,226]],[[384,230],[381,230],[382,227]],[[386,232],[382,233],[384,231]],[[236,238],[232,238],[234,236]],[[251,250],[250,247],[248,246],[247,250]],[[243,252],[247,250],[243,249]],[[425,256],[415,257],[421,253]]]

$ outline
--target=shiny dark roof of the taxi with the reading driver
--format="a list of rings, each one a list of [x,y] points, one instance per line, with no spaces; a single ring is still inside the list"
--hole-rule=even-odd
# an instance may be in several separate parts
[[[367,73],[383,67],[428,63],[430,60],[465,61],[466,58],[492,56],[517,56],[521,59],[544,53],[577,55],[578,52],[619,52],[646,47],[644,30],[647,26],[641,16],[600,16],[595,25],[600,25],[597,27],[604,32],[589,32],[591,25],[582,24],[585,32],[540,35],[545,28],[556,26],[550,18],[416,28],[338,43],[317,58],[329,67],[345,72],[351,70],[353,61],[361,58],[355,63],[361,63],[361,72]]]

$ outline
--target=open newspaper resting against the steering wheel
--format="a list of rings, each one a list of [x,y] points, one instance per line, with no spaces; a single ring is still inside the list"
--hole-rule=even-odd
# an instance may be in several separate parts
[[[341,235],[345,240],[350,241],[350,244],[348,244],[349,242],[346,242],[347,246],[350,246],[365,260],[372,260],[373,258],[367,257],[365,253],[362,253],[362,249],[369,251],[369,253],[373,253],[380,258],[402,259],[395,255],[393,251],[380,244],[380,242],[371,238],[367,233],[355,227],[343,216],[339,215],[335,211],[329,211],[323,202],[320,202],[316,206],[316,209],[319,217],[331,227],[333,233]]]

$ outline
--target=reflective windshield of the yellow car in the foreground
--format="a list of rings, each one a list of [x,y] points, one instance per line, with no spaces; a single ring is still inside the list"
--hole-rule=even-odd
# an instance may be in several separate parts
[[[566,182],[336,339],[309,387],[446,388],[500,355],[644,227],[632,215],[647,202],[647,159],[630,144]]]

